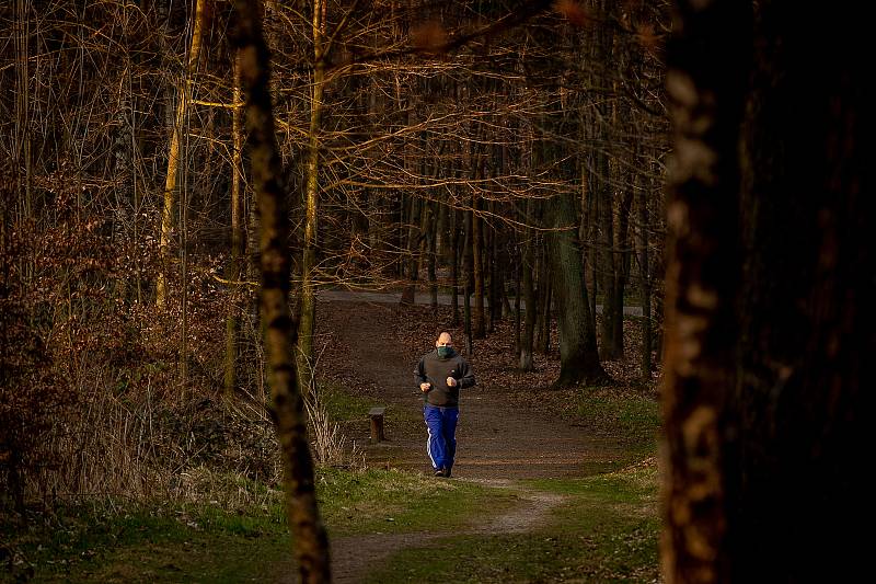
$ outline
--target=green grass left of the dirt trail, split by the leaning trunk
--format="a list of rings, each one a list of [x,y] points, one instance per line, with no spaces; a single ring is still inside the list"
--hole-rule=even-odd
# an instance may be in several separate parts
[[[229,490],[258,496],[229,504],[215,488],[196,504],[105,500],[33,513],[28,527],[0,525],[10,581],[240,582],[273,580],[290,561],[280,492],[226,477]],[[514,504],[507,491],[399,471],[320,469],[316,485],[332,536],[403,533],[462,525],[475,512]],[[238,497],[237,500],[240,500]],[[221,502],[220,502],[221,501]],[[261,502],[254,504],[253,502]],[[451,517],[451,519],[448,519]],[[453,519],[452,517],[456,517]]]

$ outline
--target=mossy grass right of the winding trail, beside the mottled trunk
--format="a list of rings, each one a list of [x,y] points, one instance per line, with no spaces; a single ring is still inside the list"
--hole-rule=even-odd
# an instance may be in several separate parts
[[[654,582],[658,580],[657,471],[623,471],[527,483],[566,502],[549,527],[469,535],[393,556],[368,582]]]

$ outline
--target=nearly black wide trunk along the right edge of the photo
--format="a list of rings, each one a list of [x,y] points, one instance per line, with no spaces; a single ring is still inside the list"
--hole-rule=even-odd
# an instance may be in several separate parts
[[[741,581],[872,572],[876,252],[863,9],[759,3],[742,209]],[[818,31],[819,43],[811,42]],[[781,47],[781,50],[776,48]],[[865,160],[866,159],[866,160]],[[865,417],[866,416],[866,417]]]

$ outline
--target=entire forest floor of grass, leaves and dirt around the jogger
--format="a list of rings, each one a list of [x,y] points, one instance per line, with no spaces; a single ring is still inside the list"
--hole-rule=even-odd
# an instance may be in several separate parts
[[[336,582],[659,581],[656,380],[637,380],[634,320],[629,357],[604,364],[614,383],[563,390],[550,389],[555,331],[522,374],[512,320],[497,322],[466,356],[477,385],[461,398],[453,478],[440,479],[413,369],[438,332],[460,347],[461,331],[448,307],[364,298],[318,308],[320,391],[358,460],[316,472]],[[370,445],[376,405],[387,440]],[[295,582],[276,484],[228,463],[180,477],[186,500],[35,508],[25,531],[0,533],[0,581]]]

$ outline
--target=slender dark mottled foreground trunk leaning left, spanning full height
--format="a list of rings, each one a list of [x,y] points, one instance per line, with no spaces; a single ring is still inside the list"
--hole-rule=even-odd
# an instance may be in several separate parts
[[[238,0],[242,87],[246,92],[252,182],[262,220],[262,318],[272,415],[283,448],[286,508],[301,582],[331,582],[328,538],[320,519],[313,462],[307,438],[295,359],[297,322],[289,311],[289,216],[280,187],[280,157],[274,134],[269,55],[262,36],[258,2]]]

